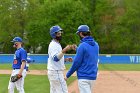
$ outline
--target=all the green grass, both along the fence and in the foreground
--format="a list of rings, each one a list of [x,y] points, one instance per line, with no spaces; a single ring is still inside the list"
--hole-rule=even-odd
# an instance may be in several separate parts
[[[69,69],[71,64],[66,64]],[[0,69],[11,69],[11,64],[0,64]],[[45,70],[46,64],[30,64],[30,70]],[[140,71],[140,64],[99,64],[100,71]],[[0,93],[7,93],[10,75],[0,75]],[[76,77],[68,79],[67,84],[73,82]],[[25,78],[26,93],[49,93],[49,81],[46,75],[27,75]],[[15,92],[17,93],[17,92]]]

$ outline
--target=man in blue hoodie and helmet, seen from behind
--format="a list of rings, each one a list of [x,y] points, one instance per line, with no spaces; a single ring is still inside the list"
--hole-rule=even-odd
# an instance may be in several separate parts
[[[99,46],[90,34],[87,25],[78,27],[77,35],[80,37],[81,43],[76,50],[73,64],[65,77],[67,80],[77,71],[80,93],[93,93],[92,88],[97,77]]]

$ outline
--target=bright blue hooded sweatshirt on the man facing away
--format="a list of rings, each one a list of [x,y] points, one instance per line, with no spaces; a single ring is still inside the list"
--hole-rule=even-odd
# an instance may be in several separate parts
[[[69,78],[77,71],[78,79],[96,80],[98,71],[99,45],[91,36],[84,37],[79,44],[73,64],[67,72]]]

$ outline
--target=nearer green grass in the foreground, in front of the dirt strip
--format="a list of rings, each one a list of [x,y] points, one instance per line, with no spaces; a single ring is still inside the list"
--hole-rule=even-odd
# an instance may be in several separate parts
[[[8,92],[8,83],[9,83],[10,75],[0,75],[0,93]],[[70,77],[67,80],[67,84],[69,85],[76,77]],[[27,75],[25,78],[25,92],[26,93],[49,93],[50,85],[48,81],[48,77],[46,75]],[[15,93],[18,93],[15,89]]]

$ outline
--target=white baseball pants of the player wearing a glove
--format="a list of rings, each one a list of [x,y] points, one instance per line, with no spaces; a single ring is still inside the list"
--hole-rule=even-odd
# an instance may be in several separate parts
[[[14,76],[19,73],[20,69],[15,69],[12,71],[11,76]],[[24,92],[24,78],[26,76],[26,69],[23,70],[22,72],[22,78],[20,78],[16,82],[11,82],[11,77],[9,80],[9,85],[8,85],[8,93],[14,93],[14,88],[16,87],[19,93],[25,93]]]

